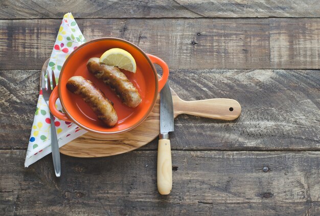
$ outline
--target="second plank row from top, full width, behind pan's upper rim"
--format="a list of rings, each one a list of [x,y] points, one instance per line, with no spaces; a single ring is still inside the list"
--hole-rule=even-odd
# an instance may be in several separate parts
[[[59,22],[0,20],[0,69],[41,68],[53,49]],[[319,68],[317,18],[77,19],[77,23],[87,40],[126,39],[164,59],[170,69]]]

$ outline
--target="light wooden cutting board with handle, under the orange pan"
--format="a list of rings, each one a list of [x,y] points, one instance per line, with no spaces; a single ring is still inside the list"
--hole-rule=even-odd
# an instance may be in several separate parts
[[[184,101],[171,89],[174,117],[186,113],[202,117],[233,120],[241,113],[240,104],[232,99]],[[78,137],[60,148],[60,152],[73,157],[106,157],[138,149],[159,135],[159,95],[156,104],[138,127],[121,134],[103,135],[92,132]]]

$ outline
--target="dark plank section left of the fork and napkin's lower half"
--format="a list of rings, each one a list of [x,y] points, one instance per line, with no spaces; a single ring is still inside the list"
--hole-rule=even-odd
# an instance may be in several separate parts
[[[0,71],[0,149],[27,148],[38,101],[39,76],[38,70]]]

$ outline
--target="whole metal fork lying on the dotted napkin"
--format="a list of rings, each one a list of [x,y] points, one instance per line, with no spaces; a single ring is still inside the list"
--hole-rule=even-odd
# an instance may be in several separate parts
[[[50,94],[52,92],[51,84],[50,84],[50,74],[47,70],[47,77],[48,77],[48,86],[45,85],[44,80],[44,70],[41,71],[41,89],[42,89],[42,95],[45,103],[49,106],[49,98]],[[56,78],[52,71],[52,87],[56,87]],[[55,169],[55,173],[57,177],[60,177],[61,175],[61,163],[60,163],[60,152],[59,152],[59,145],[58,145],[58,138],[57,138],[57,132],[56,132],[56,126],[54,123],[54,116],[50,112],[50,123],[51,123],[51,149],[52,149],[52,159],[53,159],[53,166]]]

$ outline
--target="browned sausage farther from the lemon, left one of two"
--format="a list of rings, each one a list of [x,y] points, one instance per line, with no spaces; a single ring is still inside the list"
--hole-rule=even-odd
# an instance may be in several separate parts
[[[113,103],[90,80],[75,76],[68,80],[66,88],[72,93],[80,95],[83,101],[93,109],[97,117],[107,126],[116,125],[118,116],[113,108]]]

